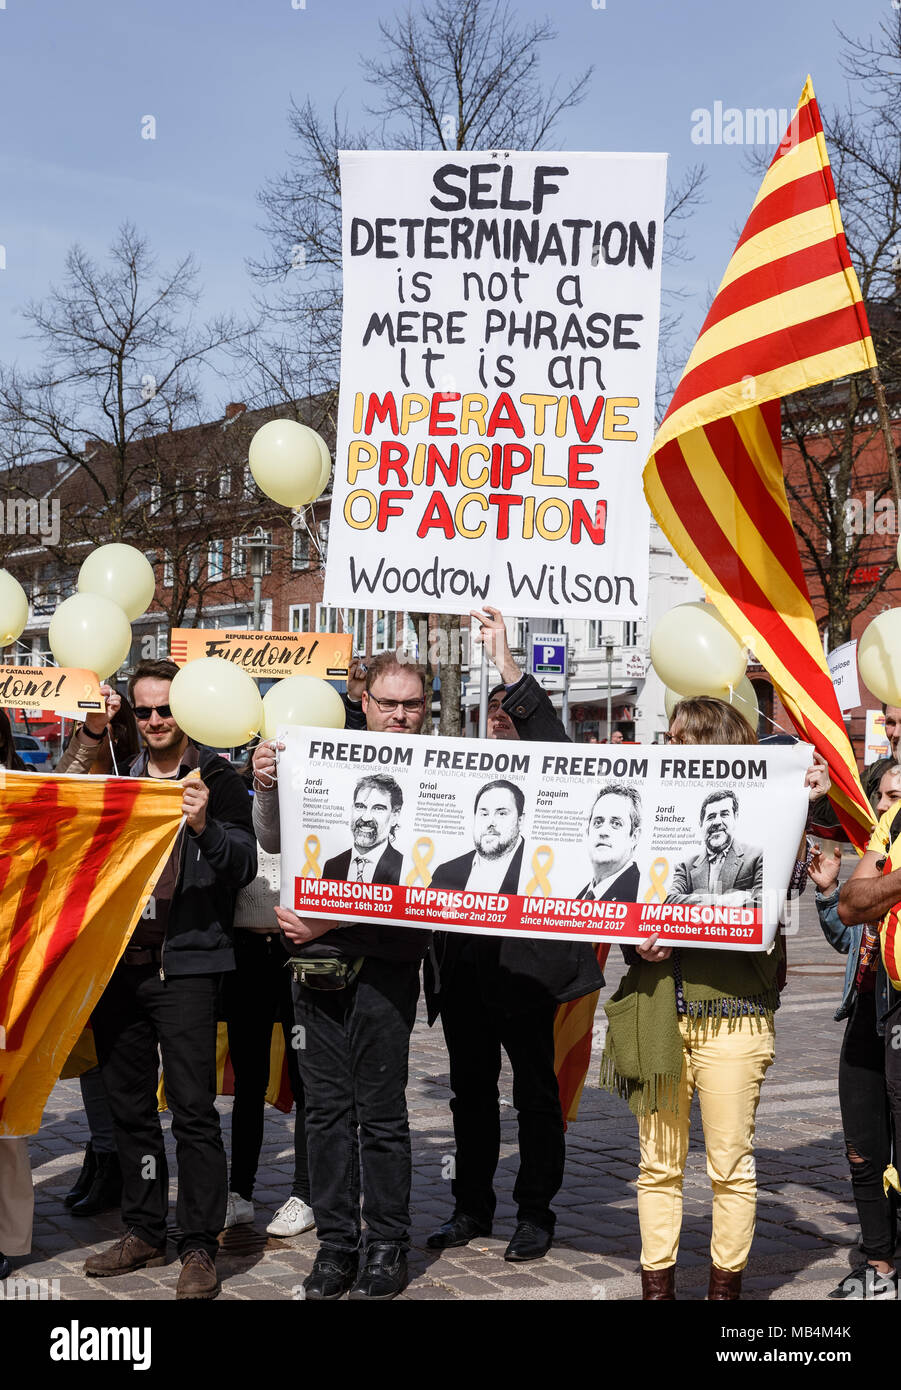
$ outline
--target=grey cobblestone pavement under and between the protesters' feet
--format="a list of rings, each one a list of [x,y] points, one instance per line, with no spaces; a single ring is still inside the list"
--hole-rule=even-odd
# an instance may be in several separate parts
[[[851,1201],[836,1076],[843,1024],[833,1022],[844,958],[823,940],[809,891],[797,934],[788,940],[788,987],[777,1017],[776,1062],[763,1086],[756,1129],[759,1208],[756,1238],[745,1273],[754,1300],[823,1298],[859,1262],[858,1223]],[[610,955],[608,986],[623,972]],[[608,997],[605,990],[603,998]],[[603,1019],[599,1011],[601,1019]],[[602,1027],[598,1033],[602,1031]],[[453,1152],[448,1109],[448,1056],[441,1029],[428,1029],[420,1012],[413,1034],[409,1087],[413,1129],[412,1280],[403,1298],[421,1300],[634,1300],[640,1295],[635,1122],[626,1104],[596,1088],[601,1037],[583,1095],[581,1113],[567,1133],[563,1190],[556,1200],[552,1251],[528,1265],[509,1265],[503,1248],[514,1219],[516,1113],[510,1074],[502,1087],[502,1151],[498,1169],[495,1234],[469,1247],[435,1254],[427,1234],[450,1211]],[[228,1145],[231,1101],[220,1101]],[[164,1118],[167,1147],[174,1150]],[[31,1259],[14,1261],[14,1273],[58,1280],[63,1300],[172,1300],[178,1259],[170,1244],[165,1266],[118,1279],[86,1280],[82,1264],[121,1233],[118,1213],[78,1219],[63,1195],[81,1166],[88,1138],[76,1081],[53,1091],[40,1134],[31,1141],[36,1186]],[[174,1152],[171,1170],[175,1170]],[[266,1140],[254,1193],[253,1226],[222,1237],[218,1261],[222,1300],[291,1300],[316,1254],[316,1234],[292,1240],[266,1236],[271,1213],[291,1191],[292,1118],[267,1111]],[[175,1186],[172,1184],[172,1218]],[[685,1173],[684,1225],[679,1252],[680,1298],[706,1293],[711,1190],[704,1163],[697,1105]],[[834,1305],[833,1305],[834,1307]]]

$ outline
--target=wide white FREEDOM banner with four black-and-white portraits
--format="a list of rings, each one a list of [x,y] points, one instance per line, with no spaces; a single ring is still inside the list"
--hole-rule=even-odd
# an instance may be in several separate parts
[[[503,744],[281,728],[300,916],[759,951],[808,810],[806,744]]]

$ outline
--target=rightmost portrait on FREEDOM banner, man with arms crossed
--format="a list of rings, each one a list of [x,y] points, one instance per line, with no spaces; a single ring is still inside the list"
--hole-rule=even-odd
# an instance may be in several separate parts
[[[667,902],[723,902],[749,908],[763,892],[763,851],[736,840],[738,798],[712,791],[701,806],[704,849],[676,865]]]

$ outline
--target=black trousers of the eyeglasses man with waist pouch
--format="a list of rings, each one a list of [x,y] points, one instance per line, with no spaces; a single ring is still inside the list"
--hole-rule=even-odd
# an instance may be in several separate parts
[[[295,983],[293,998],[320,1244],[359,1248],[362,1176],[367,1243],[406,1250],[413,1175],[406,1083],[419,960],[368,956],[349,988]]]

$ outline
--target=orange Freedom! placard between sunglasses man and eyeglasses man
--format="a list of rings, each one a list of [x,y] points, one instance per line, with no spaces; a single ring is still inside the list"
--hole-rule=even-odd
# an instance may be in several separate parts
[[[200,656],[221,656],[257,680],[282,676],[321,676],[346,680],[350,632],[254,632],[216,627],[174,627],[170,656],[178,666]]]

